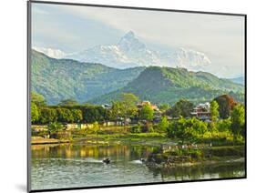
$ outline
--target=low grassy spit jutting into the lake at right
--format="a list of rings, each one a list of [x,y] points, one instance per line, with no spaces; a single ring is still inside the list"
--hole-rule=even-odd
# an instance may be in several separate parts
[[[190,167],[195,165],[226,164],[245,161],[244,146],[172,148],[157,150],[148,155],[149,168]]]

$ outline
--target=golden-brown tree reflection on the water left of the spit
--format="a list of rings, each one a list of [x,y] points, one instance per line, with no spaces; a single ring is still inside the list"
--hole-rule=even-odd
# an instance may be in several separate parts
[[[155,147],[141,145],[124,146],[97,146],[84,144],[62,144],[32,146],[32,157],[63,157],[63,158],[83,158],[83,157],[114,157],[116,160],[130,160],[131,158],[147,157]]]

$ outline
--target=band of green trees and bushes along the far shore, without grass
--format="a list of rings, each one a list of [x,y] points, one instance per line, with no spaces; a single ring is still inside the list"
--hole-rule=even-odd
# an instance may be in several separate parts
[[[58,106],[46,106],[43,96],[33,94],[31,102],[31,121],[34,124],[48,125],[49,132],[55,133],[63,129],[64,123],[90,123],[93,124],[90,132],[97,134],[99,124],[109,120],[134,118],[147,120],[147,123],[131,128],[131,132],[159,132],[167,133],[183,143],[185,140],[197,141],[204,135],[214,136],[226,133],[226,137],[241,139],[245,134],[245,110],[241,104],[234,102],[231,96],[219,96],[210,103],[211,123],[206,123],[196,117],[190,117],[193,104],[186,99],[180,99],[172,108],[164,104],[160,106],[159,123],[152,122],[154,110],[149,105],[138,106],[138,96],[123,93],[117,101],[112,102],[112,107],[97,105],[80,105],[74,100],[62,101]],[[222,107],[223,106],[223,107]],[[219,119],[220,114],[222,118]],[[168,117],[179,117],[169,121]],[[225,118],[223,118],[225,117]],[[212,129],[214,128],[214,129]],[[220,133],[218,133],[220,132]],[[218,136],[217,135],[217,136]],[[222,135],[222,134],[221,134]]]

